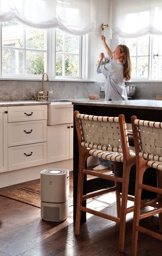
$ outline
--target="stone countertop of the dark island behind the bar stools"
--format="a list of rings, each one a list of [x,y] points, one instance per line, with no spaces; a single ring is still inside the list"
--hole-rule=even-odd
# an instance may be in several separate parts
[[[156,109],[162,110],[162,101],[157,100],[128,100],[128,101],[76,101],[73,105],[87,105],[100,107],[120,107],[120,108],[138,108],[138,109]]]

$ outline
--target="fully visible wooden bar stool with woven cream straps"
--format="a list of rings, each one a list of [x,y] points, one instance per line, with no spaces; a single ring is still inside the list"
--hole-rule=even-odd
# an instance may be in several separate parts
[[[129,176],[132,166],[135,165],[135,151],[129,146],[125,116],[84,115],[78,111],[75,111],[74,116],[79,147],[75,235],[80,233],[81,211],[118,222],[120,224],[119,251],[123,252],[126,214],[133,211],[133,206],[127,208],[127,200],[132,201],[132,197],[128,196]],[[85,163],[90,155],[113,161],[114,175],[86,170]],[[123,162],[122,177],[119,175],[119,162]],[[114,181],[115,185],[83,195],[85,174]],[[116,192],[117,217],[82,206],[82,202],[86,199],[93,199],[114,191]]]

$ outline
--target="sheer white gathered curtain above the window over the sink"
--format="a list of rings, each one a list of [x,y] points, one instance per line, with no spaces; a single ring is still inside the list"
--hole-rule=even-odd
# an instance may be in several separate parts
[[[84,35],[96,28],[97,0],[0,0],[0,21]]]

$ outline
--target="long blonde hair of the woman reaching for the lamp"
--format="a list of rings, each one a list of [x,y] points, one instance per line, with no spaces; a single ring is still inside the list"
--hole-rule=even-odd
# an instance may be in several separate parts
[[[124,75],[125,81],[129,81],[131,79],[131,72],[132,72],[132,62],[131,62],[129,48],[126,45],[118,45],[118,46],[120,48],[120,52],[124,53],[120,59],[124,68],[123,75]]]

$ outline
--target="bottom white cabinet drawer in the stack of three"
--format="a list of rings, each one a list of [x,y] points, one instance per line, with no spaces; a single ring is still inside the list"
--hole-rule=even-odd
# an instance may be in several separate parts
[[[47,142],[8,148],[8,170],[47,163]]]

